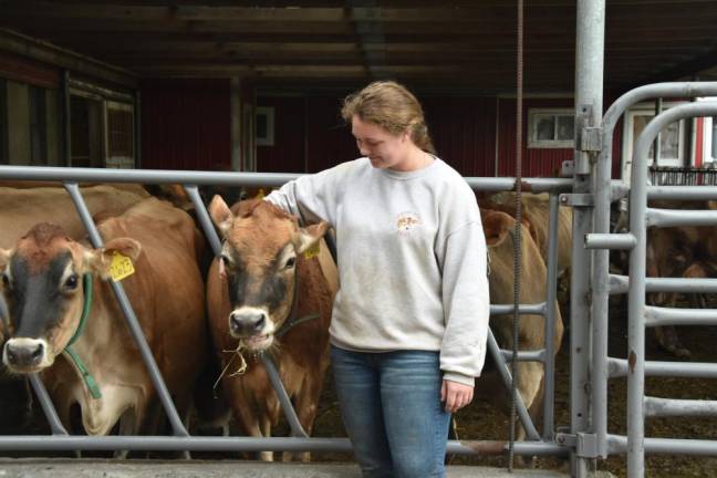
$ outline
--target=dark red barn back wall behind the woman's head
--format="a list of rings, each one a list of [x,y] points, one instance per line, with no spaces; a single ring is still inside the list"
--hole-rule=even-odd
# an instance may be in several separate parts
[[[258,105],[274,108],[274,146],[257,147],[258,170],[314,173],[358,157],[351,128],[340,117],[341,100],[335,96],[260,97]],[[515,98],[426,96],[420,101],[436,150],[446,163],[464,176],[515,176]],[[573,149],[528,148],[530,108],[572,110],[573,100],[523,101],[522,175],[554,177],[562,162],[572,159]],[[619,124],[613,143],[613,177],[620,177],[621,134]]]

